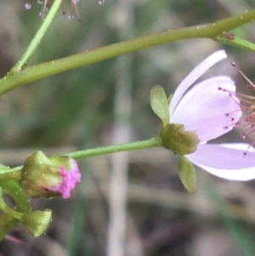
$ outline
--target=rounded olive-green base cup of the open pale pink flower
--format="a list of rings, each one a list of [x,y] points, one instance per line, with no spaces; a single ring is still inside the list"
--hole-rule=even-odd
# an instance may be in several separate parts
[[[199,139],[195,131],[185,131],[183,124],[167,123],[161,129],[162,145],[181,156],[195,152]]]

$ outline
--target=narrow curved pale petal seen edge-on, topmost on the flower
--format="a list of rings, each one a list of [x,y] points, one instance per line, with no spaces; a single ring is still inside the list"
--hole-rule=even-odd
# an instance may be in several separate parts
[[[227,58],[227,55],[224,50],[217,51],[207,57],[206,60],[203,60],[199,65],[195,67],[193,71],[190,72],[187,77],[184,78],[183,82],[179,84],[178,88],[173,94],[173,98],[169,107],[170,117],[173,115],[173,111],[178,105],[181,97],[184,95],[186,90],[190,88],[190,85],[195,82],[199,77],[201,77],[201,75],[205,73],[210,67],[212,67],[212,65],[215,65],[218,61],[224,60],[225,58]]]

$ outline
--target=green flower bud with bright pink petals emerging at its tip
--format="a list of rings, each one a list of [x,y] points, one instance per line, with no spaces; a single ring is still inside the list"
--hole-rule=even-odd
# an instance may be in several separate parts
[[[47,157],[42,151],[37,151],[24,163],[21,185],[32,197],[61,195],[66,199],[81,177],[77,162],[71,157]]]

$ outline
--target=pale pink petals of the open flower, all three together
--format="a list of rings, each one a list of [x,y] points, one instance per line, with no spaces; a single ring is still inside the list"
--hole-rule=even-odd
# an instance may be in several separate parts
[[[240,100],[235,97],[235,83],[229,77],[212,77],[191,85],[212,65],[227,57],[223,50],[210,55],[184,78],[173,94],[169,106],[172,123],[184,124],[195,131],[200,144],[186,157],[207,172],[224,179],[255,179],[255,152],[246,144],[207,144],[228,133],[241,118]],[[224,88],[234,94],[219,90]],[[190,89],[190,90],[189,90]],[[249,149],[246,157],[244,152]]]

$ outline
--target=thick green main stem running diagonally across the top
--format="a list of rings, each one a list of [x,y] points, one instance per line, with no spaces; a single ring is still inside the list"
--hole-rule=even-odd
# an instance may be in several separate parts
[[[255,19],[255,9],[238,14],[228,19],[215,23],[190,26],[175,31],[164,31],[145,37],[127,40],[122,43],[114,43],[103,48],[97,48],[82,54],[75,54],[63,59],[49,61],[39,65],[33,65],[19,72],[11,72],[0,80],[0,95],[17,88],[28,82],[33,82],[43,77],[52,76],[63,71],[75,69],[82,65],[92,64],[101,60],[131,53],[139,49],[150,48],[163,43],[176,42],[190,38],[211,38],[218,40],[224,31],[250,23]],[[228,42],[227,42],[228,43]]]

